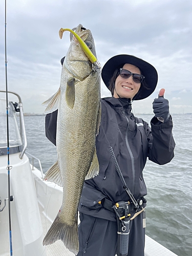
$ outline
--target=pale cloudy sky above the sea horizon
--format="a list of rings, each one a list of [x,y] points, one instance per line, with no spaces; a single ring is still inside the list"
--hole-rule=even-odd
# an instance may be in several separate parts
[[[78,24],[92,31],[101,66],[130,54],[156,67],[159,81],[134,113],[153,113],[161,88],[171,113],[192,113],[191,0],[7,0],[8,88],[23,100],[24,112],[43,113],[41,103],[60,83],[60,59]],[[0,90],[5,90],[5,1],[0,2]],[[3,95],[0,94],[0,97]],[[101,96],[110,96],[102,83]]]

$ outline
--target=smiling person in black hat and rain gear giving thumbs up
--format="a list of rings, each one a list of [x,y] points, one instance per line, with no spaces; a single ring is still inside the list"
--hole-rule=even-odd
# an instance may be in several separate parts
[[[151,127],[132,113],[133,100],[147,98],[157,86],[158,74],[150,63],[132,55],[116,55],[105,63],[101,76],[112,97],[101,99],[101,124],[96,137],[99,175],[84,181],[78,208],[77,255],[143,256],[147,191],[142,171],[147,157],[160,165],[174,157],[172,116],[164,89],[153,102]],[[55,145],[56,121],[57,111],[46,116],[46,136]],[[122,224],[117,218],[119,204],[124,205],[122,214],[129,220],[129,236],[123,237],[129,238],[125,241],[128,252],[124,254],[122,232],[118,230]]]

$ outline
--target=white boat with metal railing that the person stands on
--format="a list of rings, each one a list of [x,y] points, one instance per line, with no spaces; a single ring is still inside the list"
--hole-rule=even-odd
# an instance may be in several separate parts
[[[14,92],[8,92],[9,97],[14,95],[18,98],[18,103],[8,101],[11,191],[10,200],[8,198],[6,92],[0,93],[0,256],[10,255],[11,250],[14,256],[74,256],[61,241],[49,246],[42,245],[42,240],[61,206],[62,187],[44,181],[40,160],[26,151],[23,103]],[[38,160],[39,167],[34,166],[34,159]],[[176,254],[146,236],[145,256],[154,255]]]

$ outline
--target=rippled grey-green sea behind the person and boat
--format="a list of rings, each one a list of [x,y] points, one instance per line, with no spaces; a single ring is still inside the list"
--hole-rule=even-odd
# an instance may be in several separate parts
[[[150,124],[153,115],[136,115]],[[192,114],[175,114],[175,157],[143,170],[147,186],[146,234],[179,256],[192,255]],[[57,160],[56,147],[45,136],[45,116],[25,116],[27,152],[43,172]],[[38,162],[35,162],[38,168]],[[155,256],[155,255],[154,255]]]

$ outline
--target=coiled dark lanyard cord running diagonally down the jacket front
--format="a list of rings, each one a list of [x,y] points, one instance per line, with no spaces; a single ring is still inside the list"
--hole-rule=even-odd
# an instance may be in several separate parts
[[[107,141],[108,144],[109,144],[108,149],[109,149],[109,151],[110,151],[111,157],[112,157],[113,162],[114,162],[114,164],[115,164],[115,169],[116,169],[116,171],[117,171],[117,174],[119,175],[119,178],[120,178],[120,180],[121,180],[121,183],[123,184],[123,188],[124,188],[126,194],[127,194],[127,195],[130,197],[130,199],[132,200],[132,202],[133,202],[135,208],[138,209],[140,206],[139,206],[139,204],[137,203],[137,201],[135,200],[134,196],[132,195],[130,189],[127,187],[127,184],[126,184],[126,182],[125,182],[125,180],[124,180],[124,177],[123,177],[123,175],[122,175],[122,173],[121,173],[121,169],[120,169],[120,167],[119,167],[119,164],[118,164],[117,159],[116,159],[116,157],[115,157],[113,148],[111,147],[110,142],[109,142],[109,140],[108,140],[108,138],[106,137],[106,134],[105,134],[105,132],[104,132],[104,128],[103,128],[102,122],[101,122],[101,127],[102,127],[102,130],[103,130],[103,134],[104,134],[104,136],[105,136],[105,139],[106,139],[106,141]]]

